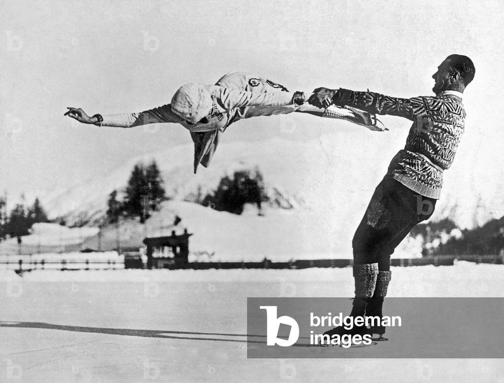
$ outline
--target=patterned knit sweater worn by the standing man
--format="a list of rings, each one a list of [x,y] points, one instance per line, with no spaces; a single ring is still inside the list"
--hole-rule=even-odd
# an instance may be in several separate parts
[[[444,91],[433,97],[407,99],[339,89],[333,103],[412,120],[406,146],[392,159],[385,178],[394,178],[422,196],[439,199],[443,171],[452,165],[464,133],[462,93]]]

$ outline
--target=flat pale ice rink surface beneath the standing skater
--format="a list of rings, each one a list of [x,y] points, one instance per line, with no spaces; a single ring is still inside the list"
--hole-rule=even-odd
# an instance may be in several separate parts
[[[389,296],[502,297],[503,272],[393,268]],[[350,268],[0,270],[0,382],[504,382],[500,359],[344,359],[391,342],[317,349],[342,359],[246,358],[247,297],[352,295]]]

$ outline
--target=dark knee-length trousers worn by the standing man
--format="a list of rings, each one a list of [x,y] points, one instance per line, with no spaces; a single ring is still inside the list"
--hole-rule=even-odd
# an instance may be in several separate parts
[[[399,181],[383,179],[371,197],[352,240],[355,265],[378,263],[390,270],[390,256],[418,223],[434,212],[436,200],[419,195]]]

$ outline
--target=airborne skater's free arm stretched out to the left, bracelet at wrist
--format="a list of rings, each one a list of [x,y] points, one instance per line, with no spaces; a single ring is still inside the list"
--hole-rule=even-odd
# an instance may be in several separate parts
[[[170,104],[140,113],[95,114],[92,117],[88,116],[81,108],[68,107],[67,109],[69,110],[65,113],[65,115],[68,115],[79,122],[104,126],[133,127],[148,123],[181,121],[181,118],[171,111]]]

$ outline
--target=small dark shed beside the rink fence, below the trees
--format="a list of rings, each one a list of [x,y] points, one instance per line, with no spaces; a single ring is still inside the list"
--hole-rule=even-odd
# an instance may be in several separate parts
[[[164,237],[144,238],[147,246],[148,269],[178,269],[183,268],[189,257],[189,237],[193,235],[184,229],[183,234],[175,234]]]

